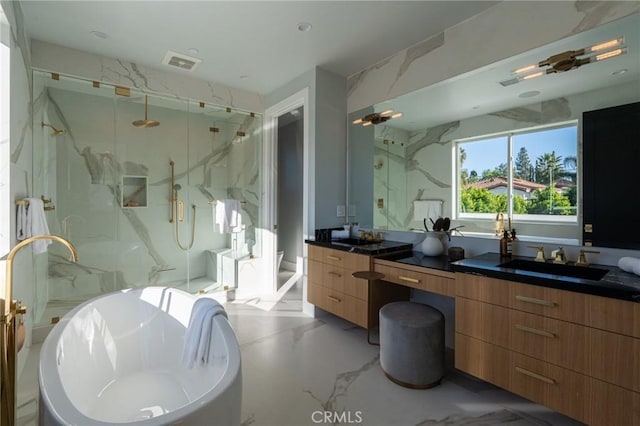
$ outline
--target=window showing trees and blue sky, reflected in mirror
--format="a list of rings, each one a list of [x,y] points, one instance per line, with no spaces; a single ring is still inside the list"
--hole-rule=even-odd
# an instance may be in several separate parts
[[[458,218],[577,222],[576,122],[456,142]]]

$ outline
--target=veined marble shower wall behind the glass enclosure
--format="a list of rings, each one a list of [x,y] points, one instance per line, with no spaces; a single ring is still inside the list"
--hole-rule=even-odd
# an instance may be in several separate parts
[[[80,262],[70,264],[51,247],[47,300],[82,300],[154,284],[197,291],[189,283],[206,276],[207,251],[231,246],[230,236],[214,229],[212,200],[246,201],[238,249],[261,254],[260,116],[150,96],[148,116],[160,126],[137,128],[131,123],[143,118],[141,93],[115,96],[112,86],[37,75],[34,122],[48,120],[65,133],[42,135],[34,161],[43,174],[36,180],[56,206],[48,215],[52,232],[80,253]],[[185,205],[178,236],[169,223],[170,161]],[[129,199],[140,206],[126,207]],[[184,251],[176,238],[183,247],[191,243],[192,205],[195,238]]]

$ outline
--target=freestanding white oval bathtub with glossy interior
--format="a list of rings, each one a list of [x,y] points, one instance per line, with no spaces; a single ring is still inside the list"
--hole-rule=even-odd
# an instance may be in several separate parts
[[[181,365],[196,300],[146,287],[65,315],[40,352],[40,424],[239,425],[240,349],[224,316],[214,319],[213,362]]]

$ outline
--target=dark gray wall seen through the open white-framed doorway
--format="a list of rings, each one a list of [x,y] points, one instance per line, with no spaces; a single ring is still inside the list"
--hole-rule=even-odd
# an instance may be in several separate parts
[[[278,127],[278,250],[284,260],[302,256],[302,176],[304,134],[302,114]]]

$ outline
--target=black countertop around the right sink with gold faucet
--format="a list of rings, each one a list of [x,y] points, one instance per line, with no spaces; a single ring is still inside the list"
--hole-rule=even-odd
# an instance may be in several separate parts
[[[484,253],[452,262],[450,270],[640,303],[640,276],[624,272],[616,266],[591,265],[609,271],[595,281],[498,266],[511,259],[533,260],[532,257],[504,258],[498,253]]]

